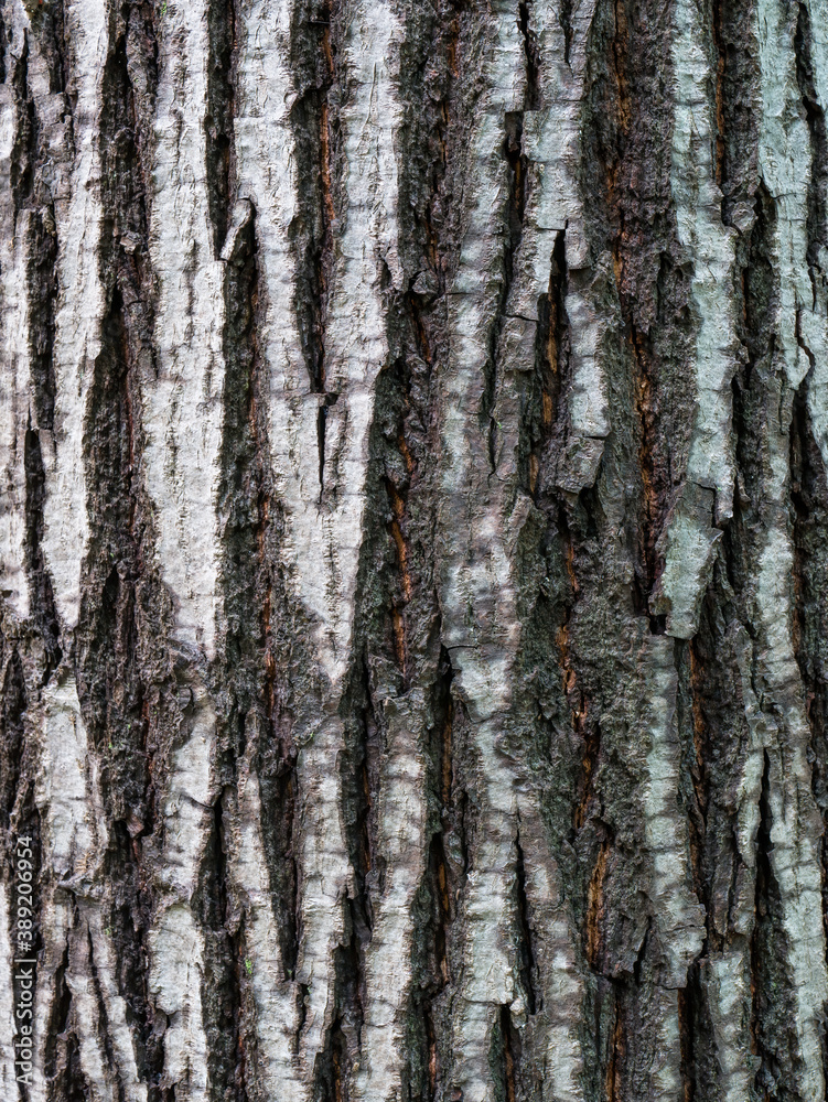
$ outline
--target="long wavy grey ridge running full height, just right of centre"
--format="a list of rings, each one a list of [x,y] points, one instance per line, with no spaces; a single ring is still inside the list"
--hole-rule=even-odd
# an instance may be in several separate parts
[[[498,430],[494,454],[490,433],[481,426],[487,412],[487,375],[495,371],[497,313],[503,309],[509,276],[509,242],[502,230],[508,224],[509,176],[514,172],[504,156],[508,150],[507,120],[523,112],[526,95],[526,54],[517,4],[495,6],[477,34],[477,41],[465,48],[466,60],[473,56],[472,51],[478,52],[480,72],[486,82],[476,100],[467,162],[476,201],[449,298],[450,347],[441,379],[439,471],[441,634],[451,656],[454,687],[469,716],[471,747],[480,769],[475,795],[481,801],[481,834],[470,853],[470,876],[461,903],[463,973],[452,1022],[450,1079],[472,1102],[493,1096],[493,1031],[501,1007],[517,995],[507,949],[516,808],[510,763],[497,746],[508,711],[514,647],[508,625],[515,623],[509,615],[514,591],[507,552],[494,523],[503,508],[503,491],[492,493],[486,487],[492,464],[496,467],[498,463],[497,453],[505,452],[506,462],[510,461],[513,411],[505,414],[509,419],[505,432]],[[505,415],[499,418],[502,423]],[[488,418],[484,424],[487,429]],[[476,516],[460,489],[466,482],[481,495],[482,509]],[[504,510],[506,516],[510,505]],[[460,518],[464,528],[469,526],[462,534],[456,527]],[[471,563],[476,570],[470,570]],[[475,624],[466,618],[469,605]]]

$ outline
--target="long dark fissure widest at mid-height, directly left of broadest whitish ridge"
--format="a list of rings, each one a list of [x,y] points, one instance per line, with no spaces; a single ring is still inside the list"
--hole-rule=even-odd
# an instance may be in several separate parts
[[[132,292],[129,281],[126,285]],[[138,309],[132,313],[142,320]],[[150,608],[163,608],[163,597],[153,592],[153,581],[142,570],[146,533],[133,482],[138,434],[132,412],[137,404],[135,338],[127,317],[116,283],[88,407],[86,454],[90,485],[100,487],[100,493],[93,498],[98,523],[82,576],[76,662],[78,699],[90,750],[99,761],[108,820],[107,937],[111,934],[117,946],[118,990],[127,1007],[139,1073],[147,1077],[151,1102],[160,1102],[157,1083],[163,1067],[163,1035],[155,1029],[144,968],[154,898],[151,862],[144,860],[141,839],[152,839],[160,829],[154,777],[163,748],[152,733],[148,711],[150,701],[158,698],[141,667],[142,658],[154,649],[147,645],[142,622]],[[162,617],[150,615],[155,624],[163,623]]]

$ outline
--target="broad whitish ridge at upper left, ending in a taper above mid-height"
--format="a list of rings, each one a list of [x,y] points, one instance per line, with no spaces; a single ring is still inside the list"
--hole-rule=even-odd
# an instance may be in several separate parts
[[[157,18],[149,259],[158,305],[155,378],[142,395],[143,463],[175,637],[212,659],[218,541],[215,509],[204,506],[218,477],[224,298],[206,183],[209,6],[168,6]]]

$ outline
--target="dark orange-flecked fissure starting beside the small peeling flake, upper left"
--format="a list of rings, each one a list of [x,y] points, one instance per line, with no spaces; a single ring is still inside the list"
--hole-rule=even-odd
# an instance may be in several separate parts
[[[234,155],[230,148],[229,156]],[[270,482],[267,376],[259,336],[261,272],[252,204],[224,259],[227,400],[219,485],[224,642],[217,679],[222,739],[227,747],[225,779],[233,787],[238,784],[236,763],[243,756],[258,775],[270,903],[283,979],[292,980],[299,953],[293,843],[297,749],[284,722],[287,693],[280,678],[288,668],[288,640],[279,637],[292,613],[284,577],[271,564],[278,561],[282,518]],[[239,1045],[241,1040],[239,1033]]]

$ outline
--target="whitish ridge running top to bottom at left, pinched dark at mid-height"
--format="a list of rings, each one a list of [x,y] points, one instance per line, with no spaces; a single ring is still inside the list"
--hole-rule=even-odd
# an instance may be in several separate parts
[[[224,268],[207,183],[211,21],[214,6],[155,12],[158,83],[148,180],[148,259],[155,280],[153,371],[141,391],[142,467],[153,516],[153,562],[173,607],[170,659],[180,709],[159,784],[155,905],[147,936],[149,996],[165,1015],[161,1087],[211,1095],[207,1033],[215,1003],[203,976],[213,964],[212,917],[201,906],[201,871],[213,836],[217,714],[207,662],[219,604],[217,489],[221,471],[225,321]],[[215,168],[215,165],[214,165]],[[168,659],[168,661],[170,661]],[[215,854],[215,849],[208,851]]]

